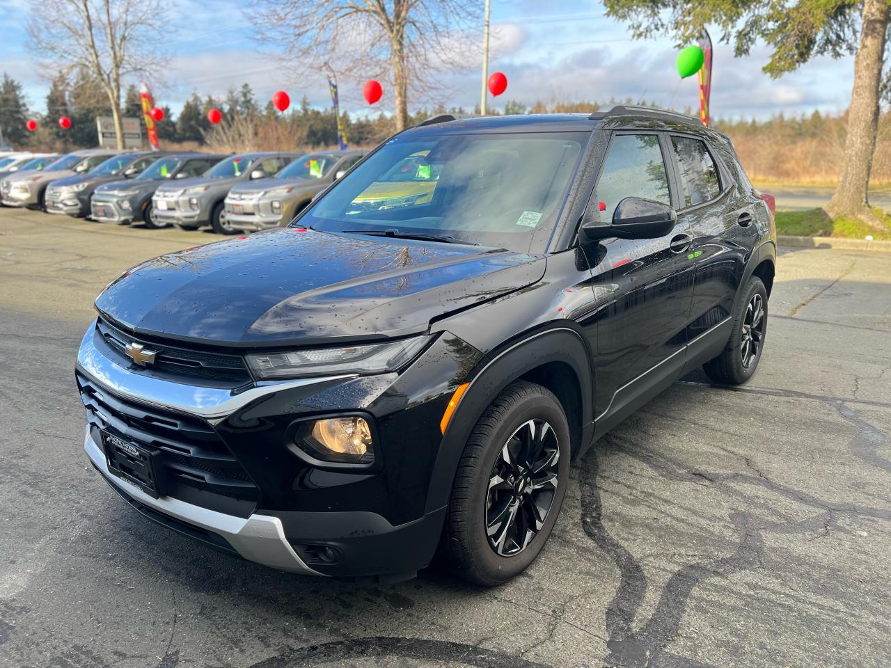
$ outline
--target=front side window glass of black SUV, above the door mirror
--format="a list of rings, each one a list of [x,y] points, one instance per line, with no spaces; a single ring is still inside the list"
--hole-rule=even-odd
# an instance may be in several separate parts
[[[626,197],[670,204],[668,175],[658,134],[618,134],[613,137],[594,197],[606,205],[603,220],[612,220],[618,203]]]

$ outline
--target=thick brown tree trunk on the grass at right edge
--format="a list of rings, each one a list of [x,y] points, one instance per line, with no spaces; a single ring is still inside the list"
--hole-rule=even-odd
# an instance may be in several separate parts
[[[879,129],[879,84],[888,26],[887,0],[865,0],[861,22],[860,45],[854,57],[854,89],[847,110],[845,153],[838,190],[826,212],[833,217],[856,217],[885,231],[887,227],[870,208],[869,186]]]

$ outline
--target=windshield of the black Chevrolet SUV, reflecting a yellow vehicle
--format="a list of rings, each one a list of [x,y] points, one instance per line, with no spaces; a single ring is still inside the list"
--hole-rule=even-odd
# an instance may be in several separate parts
[[[324,232],[434,234],[528,251],[563,205],[588,134],[396,137],[300,219]]]

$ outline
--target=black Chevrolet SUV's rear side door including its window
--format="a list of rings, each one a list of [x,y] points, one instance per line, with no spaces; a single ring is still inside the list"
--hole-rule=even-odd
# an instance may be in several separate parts
[[[688,340],[695,341],[722,322],[726,326],[756,240],[756,211],[704,137],[672,134],[668,139],[681,200],[678,224],[692,236],[688,257],[695,269]]]

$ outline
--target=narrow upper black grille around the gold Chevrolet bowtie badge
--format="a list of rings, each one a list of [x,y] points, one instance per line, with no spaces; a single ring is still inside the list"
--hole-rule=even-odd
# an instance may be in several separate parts
[[[234,354],[206,353],[192,348],[170,346],[154,338],[145,338],[128,334],[124,330],[111,325],[100,318],[96,329],[114,353],[125,363],[132,360],[124,352],[133,343],[142,344],[146,349],[155,351],[153,371],[165,371],[174,376],[197,379],[214,379],[233,383],[246,383],[250,380],[248,368],[244,360]]]

